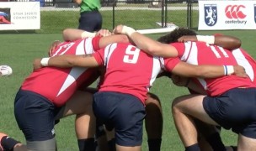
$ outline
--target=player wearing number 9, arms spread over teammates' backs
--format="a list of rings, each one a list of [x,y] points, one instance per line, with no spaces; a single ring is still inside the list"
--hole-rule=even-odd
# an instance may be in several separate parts
[[[135,31],[132,31],[133,33]],[[133,34],[132,33],[132,34]],[[131,33],[129,33],[131,34]],[[173,49],[172,56],[177,55]],[[58,55],[35,60],[35,70],[44,66],[104,66],[103,84],[93,95],[93,112],[107,129],[115,128],[117,150],[141,150],[142,121],[147,91],[161,70],[158,57],[147,55],[132,44],[109,44],[93,55]],[[229,73],[245,76],[243,67],[231,66]],[[225,76],[222,65],[190,65],[179,62],[176,73],[184,76]]]

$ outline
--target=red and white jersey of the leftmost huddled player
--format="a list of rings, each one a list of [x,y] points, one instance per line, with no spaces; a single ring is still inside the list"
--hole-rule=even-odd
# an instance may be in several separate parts
[[[79,39],[58,45],[54,55],[84,55],[92,54],[99,49],[99,37]],[[57,107],[62,106],[72,96],[79,86],[89,86],[96,69],[88,68],[55,68],[44,67],[30,74],[21,86],[22,90],[34,91],[45,96]],[[88,82],[88,83],[87,83]],[[86,84],[87,83],[87,84]]]

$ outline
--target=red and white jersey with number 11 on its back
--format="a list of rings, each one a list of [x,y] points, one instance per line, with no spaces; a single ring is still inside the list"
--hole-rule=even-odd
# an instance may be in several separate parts
[[[232,51],[223,49],[216,45],[203,42],[173,43],[179,51],[179,57],[164,60],[167,70],[173,70],[179,61],[185,61],[193,65],[237,65],[238,61]],[[249,78],[238,76],[221,76],[212,79],[195,78],[209,96],[219,96],[223,92],[236,87],[255,87]]]

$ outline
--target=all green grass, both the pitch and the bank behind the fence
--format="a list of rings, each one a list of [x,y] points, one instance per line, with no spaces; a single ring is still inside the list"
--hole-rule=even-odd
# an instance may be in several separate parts
[[[129,11],[120,11],[122,14],[128,14]],[[115,23],[124,23],[131,25],[137,29],[156,28],[154,22],[159,21],[159,14],[149,13],[141,15],[144,18],[143,23],[138,23],[136,20],[130,20],[130,16],[137,14],[131,13],[130,16],[119,16],[117,14]],[[173,14],[174,13],[174,14]],[[184,12],[183,12],[184,13]],[[55,33],[60,33],[61,29],[65,28],[77,28],[78,16],[72,18],[72,20],[66,20],[63,23],[60,15],[63,14],[66,18],[72,18],[74,13],[59,12],[59,13],[42,13],[41,14],[41,27],[40,31],[30,33],[40,34],[7,34],[16,32],[6,32],[6,34],[0,34],[1,49],[0,49],[0,65],[10,65],[13,68],[13,75],[0,78],[0,132],[8,133],[13,138],[19,139],[24,143],[24,136],[15,122],[13,116],[13,100],[16,92],[19,90],[19,86],[24,81],[26,76],[32,71],[32,61],[36,57],[47,56],[48,48],[51,42],[55,39],[61,39],[61,34],[44,34],[47,31],[54,30]],[[142,12],[140,12],[142,14]],[[172,12],[173,16],[170,17],[173,23],[182,26],[185,23],[186,18],[180,19],[180,12]],[[66,15],[66,16],[65,16]],[[104,13],[104,27],[111,29],[111,13]],[[171,15],[169,15],[171,16]],[[47,18],[51,18],[47,19]],[[157,19],[156,19],[157,18]],[[183,18],[183,17],[182,17]],[[196,29],[195,23],[197,22],[196,16],[193,16],[193,27]],[[137,18],[136,18],[137,19]],[[49,21],[45,21],[49,20]],[[109,22],[108,22],[109,21]],[[68,24],[71,23],[71,24]],[[152,23],[152,24],[150,24]],[[54,24],[54,25],[53,25]],[[54,26],[54,27],[52,27]],[[52,32],[50,32],[52,33]],[[248,50],[248,53],[256,57],[255,42],[256,31],[255,30],[230,30],[230,31],[199,31],[199,34],[215,34],[222,33],[228,35],[237,36],[243,42],[243,49]],[[150,35],[153,39],[157,39],[158,34]],[[173,118],[170,111],[171,102],[173,98],[187,94],[188,91],[185,88],[173,86],[173,84],[167,78],[160,78],[154,82],[151,92],[156,93],[160,97],[163,106],[163,151],[181,151],[184,147],[179,140],[178,133],[173,125]],[[237,141],[237,135],[229,131],[223,130],[221,133],[223,141],[227,145],[234,145]],[[56,139],[59,151],[73,151],[77,150],[77,139],[74,132],[74,117],[67,117],[61,120],[56,126]],[[142,150],[147,150],[147,134],[144,133],[142,144]]]

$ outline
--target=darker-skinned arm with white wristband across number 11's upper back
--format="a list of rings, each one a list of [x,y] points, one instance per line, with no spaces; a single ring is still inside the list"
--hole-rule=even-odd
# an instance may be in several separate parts
[[[225,49],[237,49],[241,46],[240,39],[229,35],[184,35],[178,41],[203,41],[208,44],[221,46]]]

